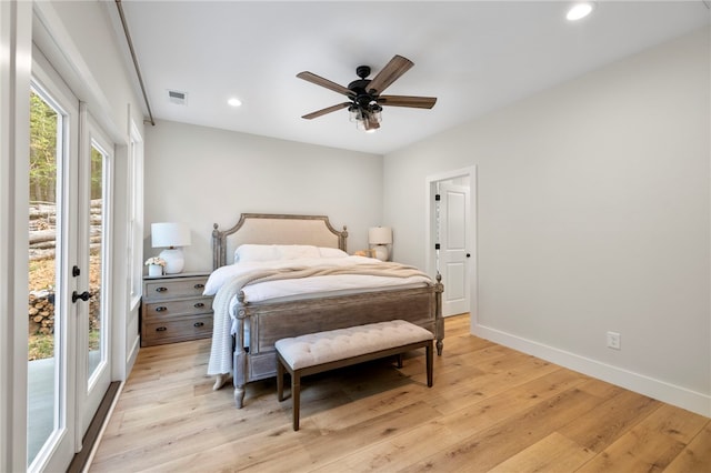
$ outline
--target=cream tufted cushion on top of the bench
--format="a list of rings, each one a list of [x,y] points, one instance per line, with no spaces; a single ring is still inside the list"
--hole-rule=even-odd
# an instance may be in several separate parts
[[[276,348],[292,370],[300,370],[432,339],[427,329],[392,320],[281,339]]]

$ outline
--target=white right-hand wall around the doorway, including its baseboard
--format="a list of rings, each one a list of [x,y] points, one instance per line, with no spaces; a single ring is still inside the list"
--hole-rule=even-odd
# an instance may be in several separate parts
[[[398,258],[475,164],[474,332],[711,415],[709,69],[703,30],[387,155]]]

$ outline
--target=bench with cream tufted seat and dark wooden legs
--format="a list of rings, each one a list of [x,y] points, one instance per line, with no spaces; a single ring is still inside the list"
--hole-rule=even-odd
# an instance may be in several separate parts
[[[277,394],[283,401],[284,370],[291,375],[293,430],[299,430],[301,376],[427,349],[427,385],[432,386],[432,333],[402,320],[317,332],[277,342]]]

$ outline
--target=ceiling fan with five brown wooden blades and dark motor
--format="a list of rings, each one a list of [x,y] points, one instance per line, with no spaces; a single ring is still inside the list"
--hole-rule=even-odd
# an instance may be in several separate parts
[[[400,76],[404,74],[412,66],[414,66],[412,61],[395,54],[372,79],[367,79],[368,76],[370,76],[370,67],[359,66],[356,69],[356,74],[360,79],[352,81],[348,87],[339,85],[312,72],[299,72],[297,74],[299,79],[342,93],[350,100],[349,102],[317,110],[301,118],[311,120],[348,108],[351,121],[354,121],[359,129],[375,131],[380,128],[382,105],[431,109],[437,102],[437,98],[434,97],[381,95],[392,82],[398,80]]]

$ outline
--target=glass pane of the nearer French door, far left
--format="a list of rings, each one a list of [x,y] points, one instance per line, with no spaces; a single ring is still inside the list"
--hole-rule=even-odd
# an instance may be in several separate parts
[[[46,94],[30,98],[28,465],[61,425],[63,394],[61,150],[63,117]]]

